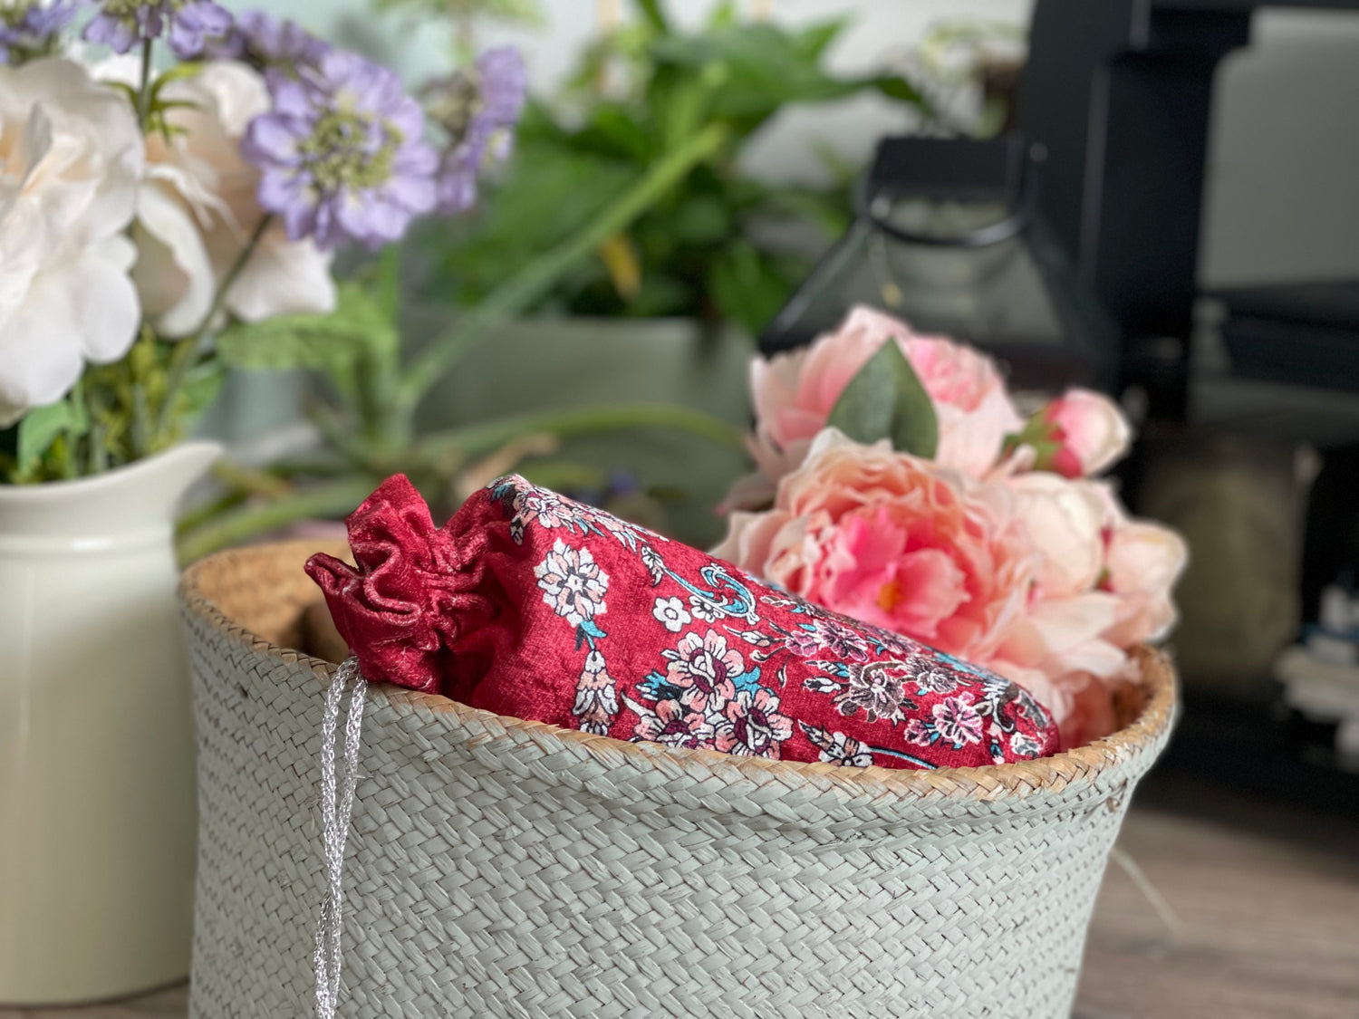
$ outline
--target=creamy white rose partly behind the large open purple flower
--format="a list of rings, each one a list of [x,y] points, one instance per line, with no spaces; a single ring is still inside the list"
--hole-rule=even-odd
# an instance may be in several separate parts
[[[264,216],[260,174],[239,145],[250,121],[269,109],[269,91],[245,64],[211,61],[166,84],[162,96],[190,106],[169,114],[169,140],[147,139],[133,279],[156,330],[181,337],[202,325]],[[330,255],[311,240],[289,242],[281,221],[265,231],[226,295],[227,310],[246,322],[328,312],[334,304]]]

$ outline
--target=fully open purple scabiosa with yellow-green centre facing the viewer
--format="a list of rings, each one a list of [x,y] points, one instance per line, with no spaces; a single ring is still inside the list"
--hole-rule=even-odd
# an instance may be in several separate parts
[[[261,173],[260,205],[281,216],[288,238],[322,249],[397,240],[435,205],[438,155],[424,113],[391,71],[330,50],[298,76],[269,75],[273,109],[241,143]]]

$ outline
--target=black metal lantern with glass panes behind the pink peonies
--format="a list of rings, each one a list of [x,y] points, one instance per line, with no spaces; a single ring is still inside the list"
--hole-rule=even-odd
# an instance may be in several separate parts
[[[1038,216],[1034,148],[1014,135],[883,139],[852,226],[761,349],[810,342],[867,304],[989,351],[1022,389],[1112,385],[1117,333]]]

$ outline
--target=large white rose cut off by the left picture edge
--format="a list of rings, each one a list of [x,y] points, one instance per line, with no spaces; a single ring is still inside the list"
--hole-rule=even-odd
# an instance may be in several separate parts
[[[0,67],[0,425],[136,338],[141,168],[130,106],[79,64]]]

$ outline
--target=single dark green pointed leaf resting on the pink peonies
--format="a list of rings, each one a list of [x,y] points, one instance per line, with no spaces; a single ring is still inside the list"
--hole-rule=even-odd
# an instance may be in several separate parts
[[[934,457],[939,446],[930,394],[893,340],[849,379],[826,424],[859,443],[890,439],[894,450],[916,457]]]

